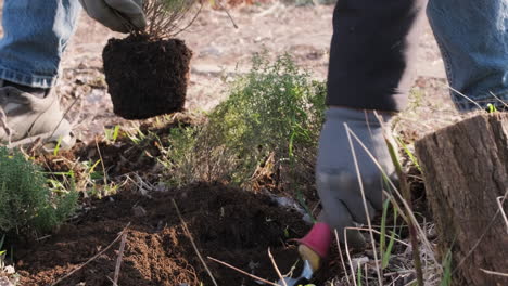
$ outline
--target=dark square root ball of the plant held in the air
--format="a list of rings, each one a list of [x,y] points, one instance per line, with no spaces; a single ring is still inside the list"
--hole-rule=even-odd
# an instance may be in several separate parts
[[[183,108],[192,51],[179,39],[110,39],[102,51],[113,110],[145,119]]]

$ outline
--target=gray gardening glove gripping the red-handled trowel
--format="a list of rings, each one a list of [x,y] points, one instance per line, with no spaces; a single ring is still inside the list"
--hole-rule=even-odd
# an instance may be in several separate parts
[[[389,120],[391,117],[390,114],[381,115],[384,120]],[[377,157],[383,170],[389,176],[394,173],[381,126],[373,113],[371,110],[329,107],[319,139],[316,167],[316,185],[322,205],[319,220],[327,222],[332,229],[335,227],[343,243],[344,227],[355,226],[354,222],[367,224],[344,122]],[[374,210],[382,209],[382,176],[353,135],[352,140],[369,214],[373,216]],[[350,247],[363,248],[365,240],[358,231],[348,230],[347,244]]]

